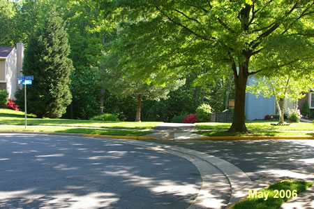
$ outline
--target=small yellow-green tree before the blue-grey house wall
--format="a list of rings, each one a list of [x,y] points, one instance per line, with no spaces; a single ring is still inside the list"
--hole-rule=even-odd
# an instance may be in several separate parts
[[[303,77],[297,71],[290,70],[290,74],[274,75],[271,77],[260,77],[255,80],[255,84],[248,86],[247,90],[251,94],[262,94],[264,97],[275,97],[276,106],[279,112],[279,124],[283,124],[285,101],[297,101],[314,85],[313,74]],[[282,101],[280,106],[279,101]]]

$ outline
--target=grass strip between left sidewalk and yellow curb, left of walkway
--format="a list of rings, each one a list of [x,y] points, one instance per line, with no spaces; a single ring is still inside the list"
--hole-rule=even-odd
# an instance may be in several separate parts
[[[144,136],[151,134],[149,131],[133,131],[133,130],[111,130],[111,129],[75,129],[75,128],[60,128],[60,127],[0,127],[1,131],[45,131],[70,134],[99,134],[113,136]]]

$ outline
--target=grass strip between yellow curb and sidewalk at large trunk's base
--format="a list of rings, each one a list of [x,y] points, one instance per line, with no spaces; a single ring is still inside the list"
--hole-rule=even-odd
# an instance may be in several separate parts
[[[314,136],[311,132],[251,131],[251,134],[230,134],[227,131],[197,131],[204,136]]]

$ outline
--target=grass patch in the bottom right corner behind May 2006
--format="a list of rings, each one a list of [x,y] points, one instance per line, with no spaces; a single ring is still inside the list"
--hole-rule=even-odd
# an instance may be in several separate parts
[[[292,193],[293,190],[297,190],[297,194],[303,192],[308,187],[311,187],[313,182],[304,182],[304,181],[294,181],[294,180],[286,180],[283,182],[277,182],[274,185],[270,185],[268,188],[260,190],[260,192],[269,192],[269,196],[267,200],[263,198],[253,198],[247,197],[243,201],[236,203],[232,208],[234,209],[244,209],[244,208],[279,208],[285,201],[288,201],[290,198],[284,196],[284,198],[274,198],[275,190],[279,192],[281,190],[287,191],[290,190]],[[285,192],[285,194],[287,194]]]

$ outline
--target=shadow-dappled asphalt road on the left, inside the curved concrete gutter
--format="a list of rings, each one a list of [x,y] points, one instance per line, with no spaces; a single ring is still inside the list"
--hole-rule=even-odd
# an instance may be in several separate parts
[[[0,134],[0,208],[186,208],[190,161],[121,141]]]

